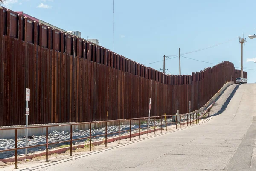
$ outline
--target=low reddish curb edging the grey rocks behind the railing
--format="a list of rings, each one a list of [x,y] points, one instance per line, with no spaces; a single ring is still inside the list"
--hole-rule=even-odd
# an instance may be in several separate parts
[[[161,130],[161,128],[156,128],[156,130]],[[162,128],[162,130],[164,130],[164,128]],[[144,134],[152,133],[152,132],[154,132],[154,130],[148,130],[148,131],[146,130],[146,131],[140,132],[140,135],[144,135]],[[131,134],[131,137],[135,137],[135,136],[139,136],[139,133]],[[120,140],[121,139],[127,139],[129,137],[130,137],[130,135],[120,136]],[[111,142],[115,142],[115,141],[118,141],[118,137],[107,139],[107,143],[111,143]],[[91,145],[95,146],[95,145],[100,145],[100,144],[103,144],[103,143],[105,143],[105,140],[91,142]],[[85,145],[89,145],[89,143],[80,144],[80,145],[72,145],[72,150],[76,150],[77,148],[84,148]],[[51,154],[54,154],[54,153],[58,153],[58,154],[65,153],[69,149],[70,149],[70,147],[64,147],[64,148],[49,150],[48,155],[51,155]],[[20,156],[20,157],[17,158],[17,161],[23,161],[25,159],[32,159],[32,158],[35,158],[35,157],[38,157],[38,156],[44,156],[44,155],[46,155],[46,151],[38,152],[38,153],[35,153],[35,154],[30,154],[30,155],[27,155],[27,156]],[[4,162],[4,163],[15,162],[15,157],[0,159],[0,162]]]

